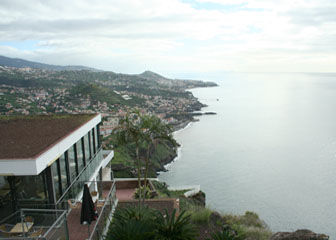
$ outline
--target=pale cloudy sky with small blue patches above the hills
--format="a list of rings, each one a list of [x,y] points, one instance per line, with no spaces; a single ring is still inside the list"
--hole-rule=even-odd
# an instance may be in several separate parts
[[[1,0],[0,55],[169,77],[336,72],[335,0]]]

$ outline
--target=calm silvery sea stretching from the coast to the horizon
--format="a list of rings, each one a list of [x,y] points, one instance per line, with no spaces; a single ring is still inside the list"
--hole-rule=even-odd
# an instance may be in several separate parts
[[[270,229],[310,229],[336,239],[336,74],[234,73],[190,90],[199,122],[159,179],[200,185],[207,206],[258,213]]]

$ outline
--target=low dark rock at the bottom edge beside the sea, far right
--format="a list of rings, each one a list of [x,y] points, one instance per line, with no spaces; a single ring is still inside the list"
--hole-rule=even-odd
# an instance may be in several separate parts
[[[277,232],[270,240],[328,240],[329,236],[317,234],[307,229],[297,230],[295,232]]]

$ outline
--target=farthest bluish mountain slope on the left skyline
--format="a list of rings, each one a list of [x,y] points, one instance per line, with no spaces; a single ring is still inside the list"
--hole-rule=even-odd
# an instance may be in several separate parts
[[[85,66],[60,66],[60,65],[50,65],[39,62],[27,61],[20,58],[9,58],[5,56],[0,56],[0,66],[6,67],[15,67],[15,68],[36,68],[44,70],[53,70],[53,71],[76,71],[76,70],[87,70],[98,72],[100,70]]]

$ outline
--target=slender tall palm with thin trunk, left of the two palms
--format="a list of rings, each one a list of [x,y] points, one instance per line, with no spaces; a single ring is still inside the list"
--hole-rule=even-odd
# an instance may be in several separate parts
[[[135,156],[137,162],[138,170],[138,186],[141,187],[141,163],[139,149],[140,144],[143,141],[143,131],[141,129],[140,123],[140,113],[138,110],[133,110],[131,113],[128,112],[123,119],[119,120],[119,126],[114,129],[113,133],[116,134],[117,142],[121,145],[126,145],[128,143],[135,144]],[[139,193],[139,199],[141,199],[141,192]],[[140,200],[139,200],[140,203]]]

